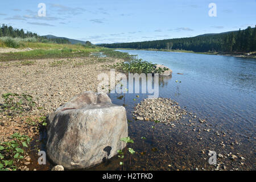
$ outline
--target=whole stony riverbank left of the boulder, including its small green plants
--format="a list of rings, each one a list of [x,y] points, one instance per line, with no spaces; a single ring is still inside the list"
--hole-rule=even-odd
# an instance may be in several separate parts
[[[85,57],[0,62],[0,143],[13,142],[12,135],[16,133],[36,138],[32,140],[33,150],[38,150],[36,143],[40,128],[46,126],[46,115],[76,94],[96,92],[100,82],[98,74],[109,74],[109,70],[102,66],[119,61],[122,60]],[[24,104],[25,101],[28,103]],[[23,150],[24,158],[15,159],[16,169],[40,169],[40,165],[35,164],[37,159],[30,158],[33,150],[26,147]],[[11,158],[13,153],[6,155]]]

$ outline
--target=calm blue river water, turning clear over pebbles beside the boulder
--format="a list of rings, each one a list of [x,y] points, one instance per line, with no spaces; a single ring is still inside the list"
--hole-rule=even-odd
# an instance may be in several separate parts
[[[226,169],[255,170],[255,59],[181,52],[120,51],[171,68],[172,77],[160,81],[159,97],[179,102],[181,109],[185,108],[196,118],[185,115],[174,122],[175,127],[158,123],[153,133],[153,122],[136,121],[132,115],[134,105],[147,98],[147,94],[125,94],[122,100],[117,97],[123,94],[109,94],[113,104],[126,105],[127,119],[131,121],[129,136],[134,139],[134,144],[128,147],[136,154],[131,160],[126,155],[123,168],[119,166],[121,160],[115,156],[89,170],[214,169],[216,167],[208,163],[208,150],[224,155],[224,158],[217,159],[217,163],[224,164]],[[207,123],[200,123],[198,118],[207,118]],[[210,129],[210,132],[203,129]],[[220,136],[215,134],[216,131]],[[141,137],[146,137],[146,140]],[[238,159],[230,160],[226,155],[230,152]],[[246,160],[241,160],[240,156]]]

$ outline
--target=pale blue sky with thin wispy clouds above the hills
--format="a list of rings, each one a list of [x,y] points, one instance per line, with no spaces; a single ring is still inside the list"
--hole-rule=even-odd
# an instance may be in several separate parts
[[[38,16],[39,3],[46,17]],[[135,42],[254,27],[255,9],[256,0],[1,0],[0,23],[92,43]]]

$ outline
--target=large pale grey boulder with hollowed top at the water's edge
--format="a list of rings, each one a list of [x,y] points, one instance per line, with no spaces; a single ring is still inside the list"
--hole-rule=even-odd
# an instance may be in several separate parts
[[[64,168],[86,168],[112,158],[128,136],[126,110],[105,93],[83,92],[47,117],[47,155]]]

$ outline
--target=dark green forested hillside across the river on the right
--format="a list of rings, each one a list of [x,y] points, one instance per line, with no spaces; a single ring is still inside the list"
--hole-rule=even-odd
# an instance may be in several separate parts
[[[108,48],[182,49],[194,52],[241,53],[256,51],[256,28],[192,38],[154,40],[146,42],[100,44]]]

